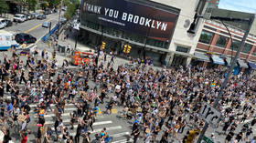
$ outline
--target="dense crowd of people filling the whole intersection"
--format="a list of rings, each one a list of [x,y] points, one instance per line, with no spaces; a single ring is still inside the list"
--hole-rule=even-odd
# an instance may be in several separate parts
[[[5,143],[11,139],[9,128],[16,126],[21,142],[29,142],[27,134],[32,128],[27,127],[34,114],[37,115],[34,126],[37,127],[37,143],[52,142],[52,137],[65,143],[79,143],[80,138],[83,143],[90,143],[94,138],[91,137],[92,124],[101,104],[105,105],[107,114],[112,114],[113,107],[120,107],[123,108],[123,119],[133,119],[130,138],[134,143],[138,138],[143,138],[145,143],[156,140],[160,143],[189,142],[188,134],[182,138],[179,135],[186,128],[194,128],[198,134],[204,127],[205,122],[198,116],[198,111],[204,102],[213,104],[225,78],[225,71],[220,69],[199,66],[155,69],[140,60],[114,68],[113,52],[110,61],[100,52],[91,57],[89,65],[81,64],[75,68],[69,68],[68,60],[59,66],[56,59],[46,56],[46,51],[34,52],[25,62],[16,50],[12,51],[12,56],[3,56],[0,122]],[[221,128],[219,136],[226,142],[256,141],[253,137],[255,79],[242,73],[229,79],[217,107],[223,115],[218,125]],[[90,80],[95,86],[89,85]],[[31,107],[32,103],[37,103],[37,107]],[[77,107],[70,113],[69,126],[63,125],[61,117],[67,103]],[[45,125],[44,116],[48,112],[55,114],[54,130]],[[243,123],[247,120],[249,122]],[[74,125],[78,127],[74,128]],[[242,128],[238,129],[239,126]],[[74,137],[69,134],[70,129],[76,129]],[[106,128],[95,137],[101,143],[112,140]]]

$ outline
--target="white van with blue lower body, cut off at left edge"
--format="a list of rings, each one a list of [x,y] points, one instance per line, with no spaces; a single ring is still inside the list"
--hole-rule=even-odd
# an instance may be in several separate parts
[[[10,47],[17,47],[14,35],[5,30],[0,30],[0,51],[8,50]]]

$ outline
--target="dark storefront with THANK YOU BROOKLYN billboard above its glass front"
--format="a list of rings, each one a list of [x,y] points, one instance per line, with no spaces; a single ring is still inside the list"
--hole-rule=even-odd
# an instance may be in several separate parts
[[[155,7],[151,6],[155,5]],[[163,64],[180,10],[148,1],[83,0],[80,40],[89,46],[106,43],[106,51],[123,54],[123,46],[132,46],[129,56],[151,58]]]

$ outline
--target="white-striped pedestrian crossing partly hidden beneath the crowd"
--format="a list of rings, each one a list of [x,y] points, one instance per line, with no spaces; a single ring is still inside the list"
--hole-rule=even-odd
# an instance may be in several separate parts
[[[6,98],[11,98],[10,96]],[[30,104],[31,107],[30,109],[30,117],[33,117],[31,121],[33,122],[37,121],[37,114],[35,113],[34,109],[37,107],[36,103]],[[45,117],[45,125],[46,127],[51,128],[53,131],[55,131],[54,128],[54,123],[55,123],[55,114],[53,113],[55,105],[50,105],[52,111],[50,109],[47,110],[46,114],[44,115]],[[66,104],[66,107],[64,108],[65,113],[61,114],[61,119],[64,127],[69,128],[69,135],[75,137],[76,136],[76,128],[78,128],[77,123],[74,124],[74,129],[70,129],[71,126],[69,125],[70,122],[70,113],[73,111],[76,111],[77,107],[75,107],[74,104]],[[112,114],[117,113],[118,110],[116,108],[112,109]],[[123,126],[123,123],[117,123],[116,121],[113,121],[112,118],[115,117],[108,117],[106,116],[111,116],[111,115],[106,115],[102,114],[102,112],[99,112],[100,114],[96,117],[96,121],[92,124],[93,131],[91,128],[89,129],[89,132],[91,132],[91,140],[95,139],[95,134],[98,134],[102,128],[106,128],[107,134],[112,137],[112,143],[130,143],[133,141],[133,139],[129,140],[130,134],[131,134],[131,129],[127,128],[126,126]],[[82,119],[82,117],[80,117]],[[123,120],[122,120],[123,121]],[[121,122],[122,122],[121,121]],[[36,130],[35,130],[36,131]],[[35,136],[33,134],[28,135],[28,138],[30,136]],[[53,134],[53,137],[56,138],[56,134]],[[30,137],[30,138],[35,138],[35,137]],[[80,141],[82,140],[82,137],[80,137]]]

